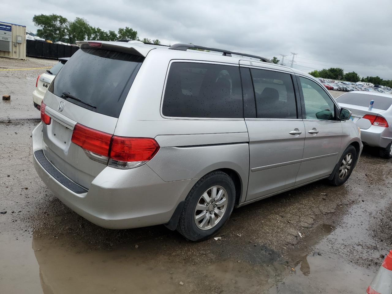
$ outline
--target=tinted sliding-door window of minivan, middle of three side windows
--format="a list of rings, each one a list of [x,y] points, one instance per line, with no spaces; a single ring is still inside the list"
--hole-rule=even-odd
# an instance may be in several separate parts
[[[297,118],[291,75],[264,69],[250,69],[257,118]]]

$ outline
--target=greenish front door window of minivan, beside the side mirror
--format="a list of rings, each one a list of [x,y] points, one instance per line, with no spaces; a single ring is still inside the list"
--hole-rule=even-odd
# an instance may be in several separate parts
[[[335,104],[318,83],[299,77],[305,104],[305,119],[334,120]]]

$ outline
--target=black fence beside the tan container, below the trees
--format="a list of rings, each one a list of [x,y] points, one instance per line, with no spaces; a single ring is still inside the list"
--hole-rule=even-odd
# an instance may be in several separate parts
[[[26,56],[58,59],[60,57],[71,57],[78,46],[47,43],[41,41],[26,40]]]

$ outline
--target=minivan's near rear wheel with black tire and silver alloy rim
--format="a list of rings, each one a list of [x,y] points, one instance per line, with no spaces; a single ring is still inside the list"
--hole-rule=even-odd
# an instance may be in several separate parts
[[[226,173],[214,171],[206,174],[185,198],[178,221],[178,232],[191,241],[211,238],[229,219],[235,195],[234,182]]]

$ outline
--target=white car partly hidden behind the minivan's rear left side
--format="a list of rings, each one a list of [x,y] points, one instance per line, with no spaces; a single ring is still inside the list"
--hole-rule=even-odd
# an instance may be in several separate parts
[[[34,107],[41,110],[42,99],[44,99],[45,93],[53,81],[56,74],[62,69],[65,62],[69,60],[69,57],[58,58],[58,64],[54,65],[51,69],[47,69],[46,73],[40,74],[35,82],[35,90],[33,91],[33,103]]]

